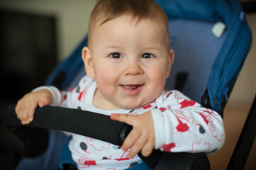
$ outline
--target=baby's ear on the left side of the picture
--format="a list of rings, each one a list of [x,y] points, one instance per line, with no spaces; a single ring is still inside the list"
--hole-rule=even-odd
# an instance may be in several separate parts
[[[92,67],[92,57],[89,47],[84,47],[82,50],[82,60],[84,62],[85,72],[91,78],[94,78],[94,68]]]

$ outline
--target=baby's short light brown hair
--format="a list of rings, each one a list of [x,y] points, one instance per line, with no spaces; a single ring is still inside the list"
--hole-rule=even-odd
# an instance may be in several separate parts
[[[167,16],[155,0],[99,0],[89,18],[89,41],[96,24],[101,26],[123,14],[136,18],[137,23],[147,18],[162,22],[168,33]]]

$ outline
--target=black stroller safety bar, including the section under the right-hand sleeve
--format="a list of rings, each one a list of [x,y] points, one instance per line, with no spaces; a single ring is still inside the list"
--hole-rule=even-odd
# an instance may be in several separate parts
[[[0,112],[0,123],[11,126],[22,125],[16,117],[14,105],[7,106]],[[133,128],[126,123],[111,120],[108,115],[56,106],[37,108],[34,120],[24,126],[73,132],[113,145],[122,145]],[[161,152],[158,149],[149,157],[143,157],[141,153],[138,155],[150,169],[154,170],[210,169],[205,153],[172,153]]]

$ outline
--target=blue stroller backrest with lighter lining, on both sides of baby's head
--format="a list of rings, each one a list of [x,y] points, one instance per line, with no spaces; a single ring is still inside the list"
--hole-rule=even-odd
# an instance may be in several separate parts
[[[240,3],[238,0],[157,0],[157,3],[169,18],[169,38],[175,52],[166,88],[178,88],[199,103],[207,88],[211,108],[220,111],[251,45],[250,28]],[[86,45],[84,38],[52,72],[48,85],[56,77],[57,81],[60,79],[57,83],[60,89],[77,84],[85,74],[81,51]],[[177,86],[175,82],[179,81],[184,82]]]

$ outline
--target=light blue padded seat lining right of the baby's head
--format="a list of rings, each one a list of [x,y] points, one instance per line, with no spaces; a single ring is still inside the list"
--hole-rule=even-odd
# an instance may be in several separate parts
[[[216,38],[211,33],[214,24],[186,19],[169,21],[169,38],[175,57],[166,88],[174,89],[176,75],[188,72],[182,92],[199,103],[206,90],[211,65],[227,34],[226,30],[221,38]]]

